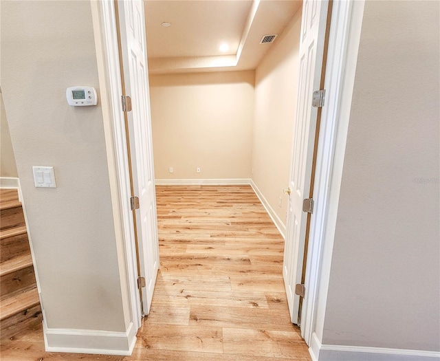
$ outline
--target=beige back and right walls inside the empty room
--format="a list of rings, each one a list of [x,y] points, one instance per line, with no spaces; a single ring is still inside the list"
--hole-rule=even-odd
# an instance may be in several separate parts
[[[300,23],[301,9],[256,72],[150,76],[157,179],[252,178],[285,223]]]

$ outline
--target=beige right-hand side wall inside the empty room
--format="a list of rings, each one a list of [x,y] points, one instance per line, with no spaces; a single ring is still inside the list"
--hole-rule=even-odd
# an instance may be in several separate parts
[[[252,179],[285,224],[298,94],[300,8],[255,75]],[[281,197],[281,207],[279,206]]]

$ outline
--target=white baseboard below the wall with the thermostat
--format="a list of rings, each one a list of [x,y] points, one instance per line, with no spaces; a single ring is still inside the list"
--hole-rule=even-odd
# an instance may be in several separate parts
[[[94,353],[130,356],[136,342],[136,331],[130,322],[126,332],[50,329],[43,320],[45,349],[48,352]]]

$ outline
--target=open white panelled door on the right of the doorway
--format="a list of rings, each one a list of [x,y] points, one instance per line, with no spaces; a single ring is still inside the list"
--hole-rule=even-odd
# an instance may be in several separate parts
[[[291,193],[287,209],[283,263],[289,311],[292,322],[295,324],[298,324],[300,303],[300,296],[295,294],[295,286],[301,283],[307,226],[307,213],[303,212],[303,199],[309,198],[318,113],[317,108],[312,107],[312,95],[320,86],[328,5],[327,0],[305,0],[303,3],[298,102],[289,180]],[[307,289],[305,297],[307,297]]]

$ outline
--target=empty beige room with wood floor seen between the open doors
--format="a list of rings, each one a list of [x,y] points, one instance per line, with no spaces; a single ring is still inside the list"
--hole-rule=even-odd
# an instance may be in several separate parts
[[[152,349],[309,360],[283,281],[301,5],[145,3],[160,260],[144,322]]]

